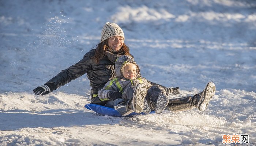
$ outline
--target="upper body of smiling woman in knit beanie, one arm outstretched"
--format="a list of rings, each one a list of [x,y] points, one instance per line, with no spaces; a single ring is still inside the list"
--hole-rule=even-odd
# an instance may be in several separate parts
[[[36,95],[46,95],[87,73],[93,100],[106,82],[116,78],[114,62],[121,55],[132,56],[124,43],[124,32],[116,23],[107,22],[102,28],[101,42],[96,49],[90,50],[78,63],[62,70],[57,76],[33,91]],[[104,105],[105,103],[99,101],[98,104]]]

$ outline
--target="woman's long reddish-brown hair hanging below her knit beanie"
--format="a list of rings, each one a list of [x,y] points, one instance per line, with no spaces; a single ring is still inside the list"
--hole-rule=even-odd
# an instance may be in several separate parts
[[[108,39],[100,42],[98,45],[96,45],[96,52],[94,54],[93,59],[96,61],[97,64],[99,64],[99,59],[103,58],[105,56],[105,51],[107,50],[107,46],[108,46]],[[129,53],[129,47],[127,47],[125,45],[125,43],[123,44],[123,46],[121,47],[121,49],[118,52],[124,52],[124,54],[120,54],[120,55],[130,55]]]

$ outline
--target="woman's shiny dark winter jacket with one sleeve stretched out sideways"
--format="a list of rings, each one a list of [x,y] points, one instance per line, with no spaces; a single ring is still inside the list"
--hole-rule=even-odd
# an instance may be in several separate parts
[[[99,60],[99,64],[92,59],[95,51],[96,49],[90,50],[84,55],[83,59],[69,68],[62,70],[57,76],[46,82],[46,85],[50,86],[52,90],[56,90],[87,73],[90,86],[93,88],[91,97],[97,96],[98,90],[102,89],[106,82],[116,78],[116,75],[114,72],[114,63],[106,55]]]

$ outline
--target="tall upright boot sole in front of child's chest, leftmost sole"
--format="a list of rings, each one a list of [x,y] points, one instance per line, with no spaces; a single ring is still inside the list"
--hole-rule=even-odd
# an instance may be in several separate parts
[[[147,86],[145,84],[138,84],[133,93],[133,108],[134,112],[141,113],[143,111],[144,99],[147,95]]]

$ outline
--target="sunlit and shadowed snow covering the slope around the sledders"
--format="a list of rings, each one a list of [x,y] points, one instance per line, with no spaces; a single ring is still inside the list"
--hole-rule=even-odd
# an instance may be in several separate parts
[[[0,1],[0,146],[223,145],[223,134],[256,145],[256,2],[252,0]],[[48,95],[33,89],[75,64],[117,23],[142,76],[180,94],[208,81],[201,112],[116,118],[84,108],[86,75]],[[234,143],[233,143],[234,144]]]

